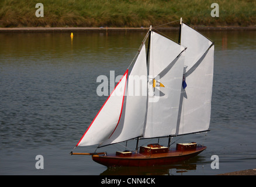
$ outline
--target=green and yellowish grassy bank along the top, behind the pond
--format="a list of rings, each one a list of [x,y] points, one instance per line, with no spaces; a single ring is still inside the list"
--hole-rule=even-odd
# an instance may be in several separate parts
[[[219,18],[210,15],[213,2]],[[255,0],[0,0],[0,27],[148,27],[180,17],[195,26],[255,26],[255,7]]]

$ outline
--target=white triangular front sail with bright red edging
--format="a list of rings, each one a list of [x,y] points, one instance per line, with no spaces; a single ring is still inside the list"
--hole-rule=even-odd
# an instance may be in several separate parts
[[[122,79],[120,79],[113,92],[109,95],[77,146],[101,144],[115,131],[123,109],[127,74],[128,70],[126,70]]]

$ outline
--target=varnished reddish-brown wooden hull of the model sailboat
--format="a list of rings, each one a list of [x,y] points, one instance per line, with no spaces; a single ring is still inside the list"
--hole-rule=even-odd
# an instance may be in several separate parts
[[[175,162],[188,160],[195,157],[203,150],[205,146],[197,146],[193,150],[177,150],[177,148],[168,150],[167,153],[132,153],[130,155],[92,155],[92,160],[106,167],[148,167],[153,165],[168,165]]]

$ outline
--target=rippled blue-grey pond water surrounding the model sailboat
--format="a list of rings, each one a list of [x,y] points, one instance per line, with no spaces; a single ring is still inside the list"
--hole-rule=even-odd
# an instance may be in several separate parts
[[[197,141],[207,149],[175,165],[136,169],[108,169],[69,153],[105,102],[96,95],[96,78],[109,77],[110,70],[123,74],[146,33],[81,32],[72,41],[70,33],[0,33],[0,174],[216,175],[256,168],[256,33],[203,33],[215,41],[211,131],[172,142]],[[127,146],[135,148],[135,142]],[[43,155],[44,169],[36,169],[36,155]],[[219,169],[210,167],[212,155],[219,156]]]

